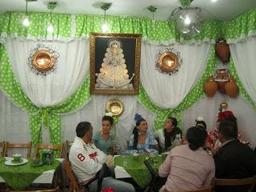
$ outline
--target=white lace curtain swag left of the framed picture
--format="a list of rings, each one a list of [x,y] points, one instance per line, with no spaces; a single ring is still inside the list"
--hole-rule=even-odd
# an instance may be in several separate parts
[[[30,70],[27,60],[30,51],[38,43],[57,51],[57,68],[46,76]],[[7,39],[7,53],[10,64],[28,98],[38,107],[54,106],[63,102],[77,90],[89,74],[89,41],[74,42],[32,42]]]

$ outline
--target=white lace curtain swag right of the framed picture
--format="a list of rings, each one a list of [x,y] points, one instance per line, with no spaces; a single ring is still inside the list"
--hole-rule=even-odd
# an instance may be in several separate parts
[[[180,52],[183,64],[177,74],[161,74],[155,70],[155,55],[162,46],[142,43],[140,81],[156,106],[173,109],[182,102],[206,68],[210,44],[174,44],[169,46]]]

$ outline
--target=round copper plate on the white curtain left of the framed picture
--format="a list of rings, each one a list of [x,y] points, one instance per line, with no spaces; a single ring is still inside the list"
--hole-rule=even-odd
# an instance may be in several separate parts
[[[32,65],[38,71],[48,71],[54,67],[56,59],[54,54],[51,54],[47,50],[38,50],[32,58]]]

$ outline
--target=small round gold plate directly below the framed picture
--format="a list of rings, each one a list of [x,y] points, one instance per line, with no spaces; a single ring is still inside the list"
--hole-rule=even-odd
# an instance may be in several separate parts
[[[113,116],[120,116],[124,111],[123,103],[114,98],[106,102],[106,111],[113,114]]]

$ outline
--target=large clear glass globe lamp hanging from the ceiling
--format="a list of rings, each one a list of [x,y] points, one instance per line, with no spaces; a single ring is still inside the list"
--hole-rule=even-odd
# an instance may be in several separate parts
[[[194,37],[202,30],[204,20],[199,8],[178,8],[174,10],[173,15],[175,28],[183,37]]]

